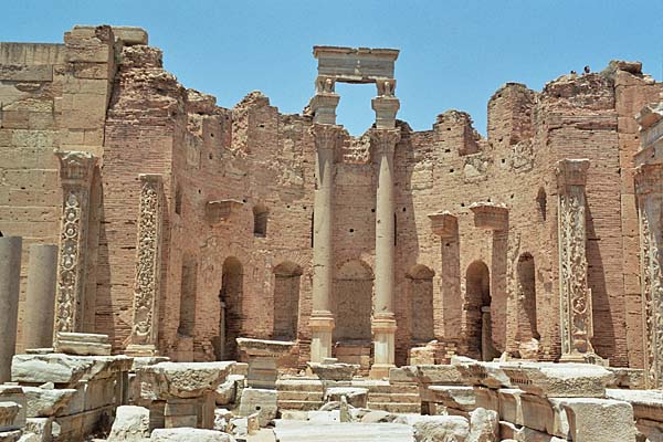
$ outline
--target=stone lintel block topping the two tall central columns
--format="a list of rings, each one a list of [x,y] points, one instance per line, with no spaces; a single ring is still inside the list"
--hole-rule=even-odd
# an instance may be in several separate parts
[[[394,49],[314,46],[318,74],[346,83],[375,83],[393,78],[399,51]]]

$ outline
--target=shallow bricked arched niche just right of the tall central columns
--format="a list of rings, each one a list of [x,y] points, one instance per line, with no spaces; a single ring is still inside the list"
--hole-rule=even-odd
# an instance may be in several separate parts
[[[413,345],[435,338],[433,323],[433,276],[435,272],[417,264],[407,274],[410,295],[410,338]]]

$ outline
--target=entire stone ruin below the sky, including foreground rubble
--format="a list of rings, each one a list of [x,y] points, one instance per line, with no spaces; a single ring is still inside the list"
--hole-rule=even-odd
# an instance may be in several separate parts
[[[284,115],[138,28],[0,43],[0,441],[663,441],[663,85],[415,131],[398,50],[313,55]]]

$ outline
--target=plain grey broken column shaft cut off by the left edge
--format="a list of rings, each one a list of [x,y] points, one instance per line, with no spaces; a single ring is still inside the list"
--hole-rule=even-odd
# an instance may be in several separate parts
[[[11,380],[21,288],[21,236],[0,238],[0,383]]]

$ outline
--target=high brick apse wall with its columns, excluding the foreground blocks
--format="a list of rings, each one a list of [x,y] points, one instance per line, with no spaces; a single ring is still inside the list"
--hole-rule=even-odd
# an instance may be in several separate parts
[[[137,28],[0,43],[0,231],[60,245],[56,332],[182,361],[242,359],[253,337],[295,343],[293,369],[507,354],[657,379],[660,190],[635,114],[662,88],[640,63],[507,83],[484,137],[460,110],[398,119],[398,50],[313,55],[286,115],[186,88]],[[376,87],[359,137],[338,82]]]

